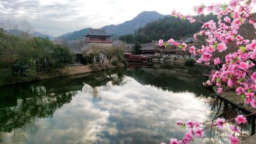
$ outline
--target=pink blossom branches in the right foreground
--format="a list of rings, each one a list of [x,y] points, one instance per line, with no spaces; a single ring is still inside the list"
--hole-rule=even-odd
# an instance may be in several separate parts
[[[208,7],[200,5],[195,7],[199,15],[196,17],[192,15],[182,15],[175,10],[172,12],[173,16],[179,17],[182,20],[186,19],[191,23],[197,21],[202,25],[202,30],[194,34],[194,38],[202,35],[205,36],[205,45],[202,45],[201,48],[195,46],[189,47],[189,53],[200,56],[197,62],[204,62],[206,65],[210,63],[221,65],[220,69],[217,69],[214,74],[211,74],[210,80],[203,83],[203,85],[216,84],[216,86],[219,87],[218,93],[223,92],[224,86],[228,89],[236,88],[237,94],[244,100],[244,103],[250,105],[252,108],[256,108],[256,40],[253,36],[252,39],[246,39],[251,36],[248,35],[244,38],[238,31],[240,26],[245,25],[245,21],[248,20],[251,26],[254,27],[252,33],[255,33],[256,20],[251,14],[251,11],[255,9],[255,3],[255,0],[231,0],[228,5],[212,4]],[[206,9],[217,14],[219,18],[218,22],[214,20],[205,22],[200,19],[201,14]],[[173,38],[169,39],[167,43],[174,44],[183,51],[187,49],[185,43],[178,43]],[[159,40],[160,46],[167,43],[163,43],[161,39]],[[228,51],[228,44],[231,45],[232,51]],[[224,53],[224,57],[218,56],[217,52]],[[215,124],[206,124],[206,127],[202,126],[204,123],[195,121],[188,121],[186,123],[177,122],[177,126],[181,128],[185,129],[187,126],[189,132],[179,140],[170,139],[170,143],[189,143],[193,141],[193,135],[203,137],[205,129],[212,127],[223,129],[224,124],[231,121],[236,121],[236,126],[230,126],[232,133],[228,134],[228,138],[230,143],[239,143],[240,140],[236,136],[240,133],[239,126],[247,123],[246,116],[255,114],[256,113],[238,115],[236,118],[229,119],[228,121],[218,117]]]

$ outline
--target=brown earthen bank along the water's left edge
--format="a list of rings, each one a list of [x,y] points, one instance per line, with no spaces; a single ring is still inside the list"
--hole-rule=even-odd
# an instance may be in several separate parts
[[[0,83],[0,85],[8,85],[8,84],[14,84],[14,83],[28,82],[28,81],[36,81],[36,80],[44,80],[44,79],[57,78],[57,77],[87,74],[95,71],[120,68],[124,66],[125,65],[122,63],[119,63],[118,66],[114,66],[106,63],[92,64],[92,65],[90,64],[90,65],[65,66],[64,68],[55,69],[53,72],[43,71],[43,72],[37,73],[36,76],[32,79],[8,82],[8,83]]]

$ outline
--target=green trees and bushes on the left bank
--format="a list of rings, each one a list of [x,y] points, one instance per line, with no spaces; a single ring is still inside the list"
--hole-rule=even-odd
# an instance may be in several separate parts
[[[20,39],[4,31],[0,31],[0,57],[0,83],[31,80],[36,71],[61,68],[74,60],[67,47],[48,38]]]

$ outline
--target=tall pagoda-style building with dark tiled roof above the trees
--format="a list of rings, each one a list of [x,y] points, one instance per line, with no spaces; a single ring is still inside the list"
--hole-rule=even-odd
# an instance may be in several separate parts
[[[86,42],[88,44],[96,43],[97,46],[112,46],[112,34],[108,34],[103,29],[90,29],[90,32],[86,37]]]

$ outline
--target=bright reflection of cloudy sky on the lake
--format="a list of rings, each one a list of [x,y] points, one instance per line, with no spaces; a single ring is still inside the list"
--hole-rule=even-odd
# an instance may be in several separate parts
[[[201,111],[206,104],[193,93],[173,93],[125,79],[122,86],[108,82],[111,88],[94,87],[99,101],[92,101],[93,88],[85,84],[52,118],[36,119],[36,133],[24,130],[27,143],[159,143],[184,134],[176,121],[205,118]]]

